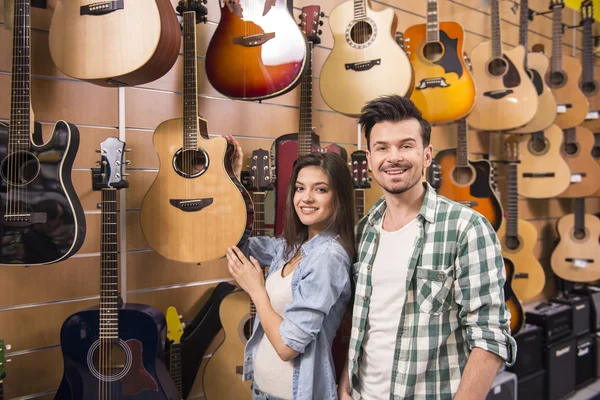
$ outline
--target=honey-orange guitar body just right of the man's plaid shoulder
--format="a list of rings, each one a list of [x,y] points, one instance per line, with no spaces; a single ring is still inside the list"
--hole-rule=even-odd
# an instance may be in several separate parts
[[[546,274],[538,259],[533,255],[538,233],[530,222],[519,219],[517,222],[519,245],[511,249],[507,246],[506,225],[498,230],[498,239],[502,244],[502,255],[509,258],[515,267],[512,288],[517,297],[523,301],[530,300],[540,294],[546,285]]]

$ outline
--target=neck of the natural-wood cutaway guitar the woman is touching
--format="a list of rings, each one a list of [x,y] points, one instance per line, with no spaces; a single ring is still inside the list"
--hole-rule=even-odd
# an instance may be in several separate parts
[[[183,149],[198,148],[196,13],[183,13]]]

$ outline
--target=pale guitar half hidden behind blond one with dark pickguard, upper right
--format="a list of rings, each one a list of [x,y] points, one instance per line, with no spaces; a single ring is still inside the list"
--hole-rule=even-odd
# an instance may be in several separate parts
[[[521,0],[519,13],[519,44],[528,49],[529,39],[529,0]],[[535,87],[538,95],[538,106],[535,116],[527,125],[518,128],[519,133],[533,133],[548,128],[556,119],[556,99],[544,76],[548,71],[548,58],[541,52],[527,52],[523,57],[523,68]],[[519,185],[519,187],[522,187]]]

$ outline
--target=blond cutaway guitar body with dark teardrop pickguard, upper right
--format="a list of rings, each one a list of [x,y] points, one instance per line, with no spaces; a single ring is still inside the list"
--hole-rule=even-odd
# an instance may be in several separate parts
[[[471,63],[477,99],[469,114],[469,125],[474,129],[510,130],[533,119],[538,96],[523,69],[524,56],[525,49],[520,45],[504,51],[507,70],[501,76],[494,76],[489,71],[489,64],[493,61],[491,42],[483,42],[473,49]]]

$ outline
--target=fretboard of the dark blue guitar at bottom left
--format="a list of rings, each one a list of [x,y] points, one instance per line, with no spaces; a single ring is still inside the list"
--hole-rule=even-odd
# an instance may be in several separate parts
[[[119,338],[119,261],[117,191],[102,189],[100,254],[100,339]]]

